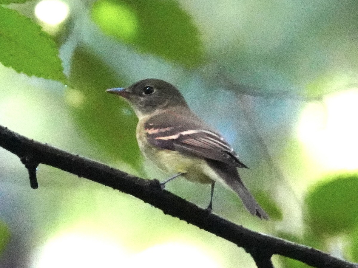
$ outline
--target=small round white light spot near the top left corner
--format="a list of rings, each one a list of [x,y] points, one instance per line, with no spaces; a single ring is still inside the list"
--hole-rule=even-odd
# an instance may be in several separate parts
[[[60,0],[43,0],[35,6],[36,17],[53,26],[62,23],[68,12],[68,5]]]

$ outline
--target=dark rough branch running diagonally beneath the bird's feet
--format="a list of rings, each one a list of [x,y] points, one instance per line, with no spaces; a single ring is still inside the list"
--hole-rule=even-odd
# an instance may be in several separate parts
[[[3,126],[0,126],[0,146],[23,161],[24,157],[27,157],[24,164],[27,164],[26,168],[32,172],[37,164],[45,164],[133,195],[163,210],[164,214],[182,219],[244,248],[252,255],[257,265],[261,265],[259,267],[265,267],[262,266],[265,263],[271,265],[266,267],[272,267],[270,258],[273,254],[278,254],[313,267],[358,268],[357,264],[332,257],[320,250],[236,225],[168,191],[161,190],[158,180],[144,180],[131,176],[99,162],[30,140]],[[32,178],[34,179],[35,177]]]

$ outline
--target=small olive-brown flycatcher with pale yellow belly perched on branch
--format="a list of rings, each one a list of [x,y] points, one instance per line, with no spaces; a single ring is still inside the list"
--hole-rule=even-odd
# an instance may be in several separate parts
[[[182,94],[172,84],[144,79],[127,88],[107,92],[125,98],[139,122],[136,137],[142,154],[169,174],[193,182],[211,184],[212,209],[216,181],[228,186],[241,198],[246,209],[260,219],[269,219],[238,174],[246,167],[227,141],[194,114]]]

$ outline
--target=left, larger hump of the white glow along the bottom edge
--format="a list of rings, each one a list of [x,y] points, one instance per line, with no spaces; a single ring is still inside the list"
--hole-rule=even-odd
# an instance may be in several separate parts
[[[36,268],[117,268],[127,264],[126,253],[118,244],[85,234],[67,234],[51,240],[37,259]]]

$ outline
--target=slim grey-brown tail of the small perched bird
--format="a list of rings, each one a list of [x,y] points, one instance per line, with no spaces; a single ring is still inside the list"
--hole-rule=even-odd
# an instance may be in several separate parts
[[[236,167],[217,161],[208,161],[208,164],[223,180],[223,182],[238,194],[242,203],[245,205],[245,208],[252,215],[257,216],[260,219],[269,219],[269,215],[267,215],[266,211],[261,208],[255,198],[242,183]]]

